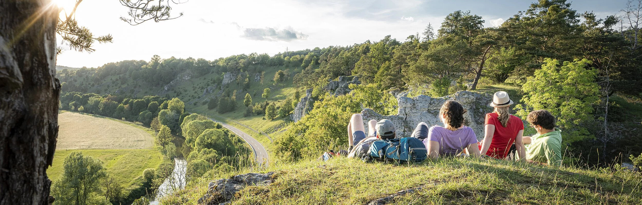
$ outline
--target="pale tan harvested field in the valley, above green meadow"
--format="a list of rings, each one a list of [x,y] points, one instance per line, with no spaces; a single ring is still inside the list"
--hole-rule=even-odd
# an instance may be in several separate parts
[[[56,149],[151,148],[153,136],[143,129],[115,120],[64,112],[58,114]]]

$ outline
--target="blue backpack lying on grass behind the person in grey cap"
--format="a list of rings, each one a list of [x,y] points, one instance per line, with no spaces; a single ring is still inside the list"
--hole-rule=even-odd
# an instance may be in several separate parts
[[[376,140],[370,145],[369,156],[379,160],[419,162],[428,158],[428,150],[421,140],[413,137]]]

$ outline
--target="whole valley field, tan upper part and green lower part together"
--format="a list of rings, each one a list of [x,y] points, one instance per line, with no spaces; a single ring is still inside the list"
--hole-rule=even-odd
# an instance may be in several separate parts
[[[153,131],[131,122],[98,115],[65,111],[58,114],[60,131],[49,179],[63,172],[64,160],[71,152],[82,152],[103,161],[110,176],[123,186],[135,184],[146,168],[156,168],[162,154],[153,148]]]

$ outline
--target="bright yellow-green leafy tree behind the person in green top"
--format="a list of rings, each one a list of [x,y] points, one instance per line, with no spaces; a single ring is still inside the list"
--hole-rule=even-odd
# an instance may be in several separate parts
[[[593,137],[582,124],[593,120],[593,104],[599,103],[600,86],[595,83],[596,70],[587,69],[589,60],[564,61],[547,58],[542,69],[535,70],[522,90],[525,104],[516,106],[517,115],[525,118],[532,110],[548,110],[564,130],[564,143]]]

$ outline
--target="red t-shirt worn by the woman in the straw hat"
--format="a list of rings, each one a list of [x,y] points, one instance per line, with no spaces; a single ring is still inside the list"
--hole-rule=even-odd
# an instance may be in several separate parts
[[[486,114],[486,122],[484,125],[492,124],[495,126],[495,133],[492,135],[492,141],[490,142],[490,147],[486,152],[486,155],[497,159],[503,159],[508,155],[510,146],[515,142],[517,133],[524,129],[524,123],[519,119],[519,117],[510,115],[508,123],[506,124],[506,127],[504,127],[497,119],[498,116],[498,113]]]

